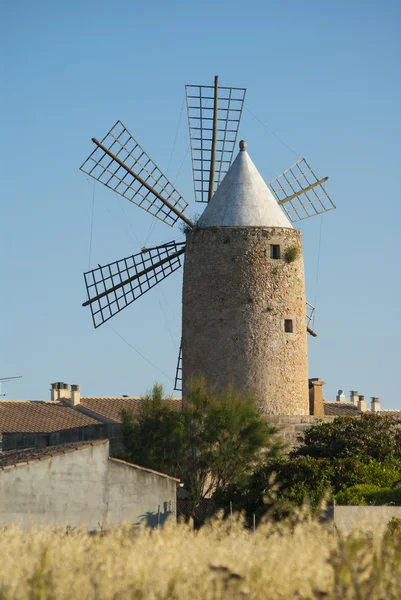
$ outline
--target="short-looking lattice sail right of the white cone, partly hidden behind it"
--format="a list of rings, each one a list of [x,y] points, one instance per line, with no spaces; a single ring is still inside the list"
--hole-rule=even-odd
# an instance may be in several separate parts
[[[318,178],[301,158],[273,179],[269,187],[291,223],[296,223],[335,208],[323,187],[327,179]]]

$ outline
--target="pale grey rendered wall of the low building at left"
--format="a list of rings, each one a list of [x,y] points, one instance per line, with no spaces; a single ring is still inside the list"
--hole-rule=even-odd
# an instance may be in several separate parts
[[[56,451],[56,447],[55,447]],[[0,470],[0,524],[157,525],[176,514],[177,482],[109,459],[107,441]]]

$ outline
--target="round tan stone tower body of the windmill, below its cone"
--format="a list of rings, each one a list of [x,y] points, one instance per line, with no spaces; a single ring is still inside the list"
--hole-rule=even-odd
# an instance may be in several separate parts
[[[280,246],[280,258],[270,246]],[[295,248],[293,262],[287,250]],[[253,390],[267,415],[308,415],[305,286],[295,229],[187,234],[183,281],[183,395],[192,378]],[[293,333],[284,330],[292,320]]]

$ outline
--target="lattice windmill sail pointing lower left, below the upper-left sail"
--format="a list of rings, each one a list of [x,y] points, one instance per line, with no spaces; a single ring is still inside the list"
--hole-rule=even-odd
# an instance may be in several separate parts
[[[185,242],[143,248],[138,254],[84,273],[93,325],[99,327],[180,266]]]

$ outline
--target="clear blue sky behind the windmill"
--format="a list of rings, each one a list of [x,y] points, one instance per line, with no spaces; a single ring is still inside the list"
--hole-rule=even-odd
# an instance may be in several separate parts
[[[316,301],[310,376],[401,408],[401,3],[5,0],[1,48],[0,377],[8,398],[172,391],[182,272],[94,330],[93,185],[78,170],[121,119],[193,202],[184,84],[246,87],[246,107],[322,175],[337,210],[301,225]],[[177,127],[177,140],[173,147]],[[245,110],[267,181],[296,156]],[[185,161],[180,169],[180,166]],[[123,210],[122,210],[123,209]],[[153,218],[95,187],[91,264],[137,252]],[[322,239],[319,249],[319,233]],[[148,244],[181,237],[157,223]],[[317,266],[319,263],[319,270]],[[316,285],[317,283],[317,285]],[[170,379],[171,378],[171,379]]]

